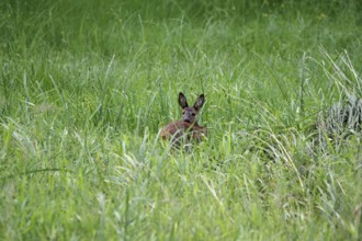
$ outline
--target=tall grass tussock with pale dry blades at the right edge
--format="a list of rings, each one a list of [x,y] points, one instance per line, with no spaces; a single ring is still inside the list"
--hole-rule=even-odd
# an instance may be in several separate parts
[[[362,80],[344,51],[337,60],[323,49],[327,62],[323,70],[330,81],[329,99],[335,101],[318,113],[317,142],[321,147],[339,147],[352,135],[360,136],[362,127]],[[331,67],[331,70],[329,69]],[[336,96],[337,95],[337,96]]]

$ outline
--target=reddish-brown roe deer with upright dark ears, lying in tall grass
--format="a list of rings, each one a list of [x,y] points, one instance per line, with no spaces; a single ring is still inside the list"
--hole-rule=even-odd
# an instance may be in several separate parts
[[[190,107],[186,97],[182,92],[179,93],[179,105],[182,107],[182,120],[174,120],[161,130],[161,137],[165,140],[171,139],[174,144],[180,145],[180,140],[185,137],[185,140],[200,141],[207,135],[206,127],[199,126],[196,114],[205,103],[204,94],[201,94],[195,104]]]

